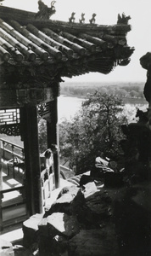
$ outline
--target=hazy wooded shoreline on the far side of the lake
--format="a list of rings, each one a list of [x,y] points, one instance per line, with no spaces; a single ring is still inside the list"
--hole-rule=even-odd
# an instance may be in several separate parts
[[[99,91],[101,94],[119,96],[125,104],[148,104],[143,95],[143,82],[64,82],[60,94],[65,97],[86,99],[88,94]]]

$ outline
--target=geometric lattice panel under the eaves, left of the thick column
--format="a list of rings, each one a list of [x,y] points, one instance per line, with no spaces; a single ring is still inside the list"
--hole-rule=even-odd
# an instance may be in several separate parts
[[[11,125],[20,123],[20,109],[0,110],[0,125]]]

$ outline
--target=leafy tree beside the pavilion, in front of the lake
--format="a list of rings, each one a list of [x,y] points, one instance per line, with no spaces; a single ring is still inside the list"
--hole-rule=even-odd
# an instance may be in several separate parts
[[[87,95],[70,122],[60,125],[60,134],[64,134],[64,139],[60,137],[60,152],[70,161],[70,167],[76,166],[76,173],[91,170],[97,156],[118,156],[123,137],[120,125],[127,121],[122,110],[120,98],[96,91]]]

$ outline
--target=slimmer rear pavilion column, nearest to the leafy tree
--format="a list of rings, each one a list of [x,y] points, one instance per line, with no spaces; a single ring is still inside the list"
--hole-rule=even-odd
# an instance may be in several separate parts
[[[58,98],[56,97],[50,102],[50,119],[51,122],[47,122],[48,133],[48,148],[51,148],[52,144],[58,146],[58,151],[53,154],[54,161],[54,178],[55,188],[59,188],[60,183],[60,168],[59,168],[59,125],[58,125]]]

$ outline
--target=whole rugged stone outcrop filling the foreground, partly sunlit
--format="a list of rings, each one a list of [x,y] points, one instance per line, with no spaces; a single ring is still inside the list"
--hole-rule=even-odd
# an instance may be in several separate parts
[[[148,256],[148,195],[147,182],[120,188],[100,187],[96,181],[64,187],[43,216],[25,221],[24,241],[38,248],[40,256]]]

